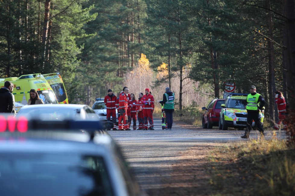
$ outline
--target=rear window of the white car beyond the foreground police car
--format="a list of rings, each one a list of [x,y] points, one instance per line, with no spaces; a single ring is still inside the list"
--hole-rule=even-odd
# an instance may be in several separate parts
[[[75,108],[22,108],[17,116],[40,117],[52,119],[74,119],[80,117],[80,109]]]

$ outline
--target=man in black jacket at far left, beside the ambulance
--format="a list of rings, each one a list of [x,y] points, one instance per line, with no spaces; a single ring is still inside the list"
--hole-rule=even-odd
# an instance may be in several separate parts
[[[0,112],[16,115],[14,95],[12,94],[13,84],[5,81],[4,87],[0,89]]]

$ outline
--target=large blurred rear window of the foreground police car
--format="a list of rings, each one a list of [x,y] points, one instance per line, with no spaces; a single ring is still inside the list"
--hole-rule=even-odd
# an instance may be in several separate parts
[[[0,174],[1,195],[113,195],[102,157],[3,153]]]

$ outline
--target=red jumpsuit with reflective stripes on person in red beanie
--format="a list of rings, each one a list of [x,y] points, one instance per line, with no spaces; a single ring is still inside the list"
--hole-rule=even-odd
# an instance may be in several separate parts
[[[154,127],[153,112],[154,112],[154,96],[151,94],[144,95],[143,100],[143,117],[144,117],[144,129],[148,129],[148,122],[150,123],[150,128]]]

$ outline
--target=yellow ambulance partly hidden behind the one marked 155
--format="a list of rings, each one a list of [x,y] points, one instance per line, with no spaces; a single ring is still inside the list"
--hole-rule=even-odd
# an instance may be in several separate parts
[[[43,74],[44,78],[47,80],[48,84],[51,86],[53,92],[56,95],[57,101],[59,103],[68,104],[68,95],[65,90],[65,84],[62,81],[62,76],[57,73]]]

